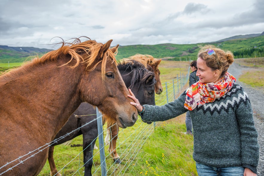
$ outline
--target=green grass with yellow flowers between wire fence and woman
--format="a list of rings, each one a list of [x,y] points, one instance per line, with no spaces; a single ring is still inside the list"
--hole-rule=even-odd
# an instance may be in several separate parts
[[[197,175],[192,159],[193,137],[181,133],[185,124],[166,123],[155,128],[130,173],[125,175]]]

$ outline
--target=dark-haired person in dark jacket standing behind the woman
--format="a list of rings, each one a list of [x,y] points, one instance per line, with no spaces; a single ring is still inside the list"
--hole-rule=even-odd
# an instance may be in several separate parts
[[[199,77],[196,76],[196,72],[197,72],[196,60],[190,63],[190,67],[191,67],[192,73],[190,73],[190,76],[189,76],[189,86],[199,81]],[[192,125],[192,119],[191,119],[189,111],[186,112],[185,125],[186,125],[186,132],[184,132],[184,134],[192,135],[193,125]]]

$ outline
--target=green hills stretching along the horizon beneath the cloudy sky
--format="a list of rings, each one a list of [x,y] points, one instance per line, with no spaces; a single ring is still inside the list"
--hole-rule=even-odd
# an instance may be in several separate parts
[[[237,38],[237,37],[236,37]],[[117,60],[139,54],[149,54],[155,58],[170,58],[172,60],[195,60],[199,51],[198,44],[158,44],[158,45],[129,45],[120,46],[118,48]],[[230,39],[222,42],[211,42],[221,49],[230,50],[234,53],[235,58],[249,58],[249,57],[264,57],[264,36],[256,36],[251,38]],[[50,50],[29,48],[29,50],[22,50],[19,47],[3,48],[0,45],[0,63],[8,62],[23,62],[29,56],[36,53],[45,53]]]

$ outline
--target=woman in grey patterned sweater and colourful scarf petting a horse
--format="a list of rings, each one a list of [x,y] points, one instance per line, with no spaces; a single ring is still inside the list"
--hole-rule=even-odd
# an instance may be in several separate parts
[[[190,111],[193,159],[200,176],[257,175],[258,134],[248,96],[227,72],[233,62],[230,51],[202,47],[197,59],[199,82],[166,105],[142,106],[129,90],[135,101],[131,104],[143,120],[164,121]]]

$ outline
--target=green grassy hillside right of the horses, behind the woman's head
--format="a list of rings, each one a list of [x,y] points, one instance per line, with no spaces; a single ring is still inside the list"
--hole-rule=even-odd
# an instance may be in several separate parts
[[[252,37],[247,39],[234,39],[225,42],[217,42],[210,44],[215,45],[224,50],[230,50],[233,53],[238,52],[239,50],[247,50],[256,47],[255,50],[262,51],[261,55],[257,55],[256,57],[264,56],[264,36]],[[197,59],[196,55],[199,51],[199,45],[205,45],[205,43],[184,45],[159,44],[120,46],[118,48],[118,54],[116,57],[117,59],[122,59],[140,53],[149,54],[155,58],[171,57],[173,60],[194,60]]]

